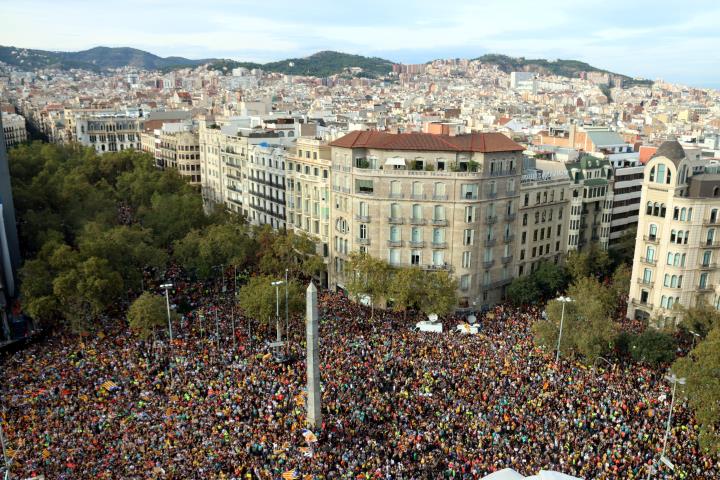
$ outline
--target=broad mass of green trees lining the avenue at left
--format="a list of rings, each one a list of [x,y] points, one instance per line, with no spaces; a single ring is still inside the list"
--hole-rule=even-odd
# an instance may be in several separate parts
[[[168,263],[202,280],[222,266],[303,278],[323,267],[305,237],[206,215],[197,190],[144,153],[35,142],[11,151],[10,169],[26,258],[21,298],[46,325],[90,329]]]

